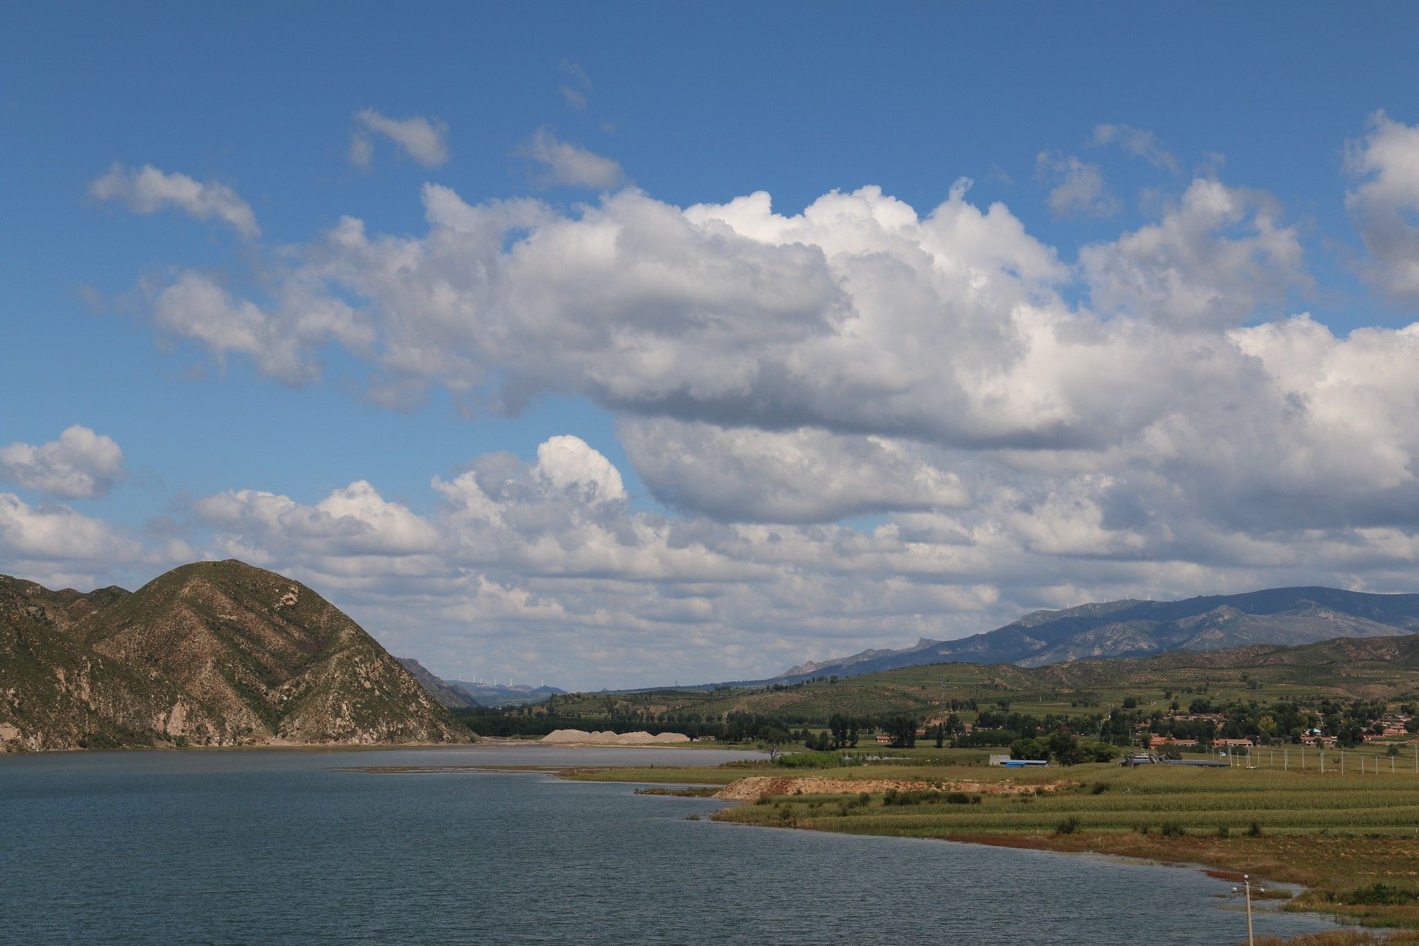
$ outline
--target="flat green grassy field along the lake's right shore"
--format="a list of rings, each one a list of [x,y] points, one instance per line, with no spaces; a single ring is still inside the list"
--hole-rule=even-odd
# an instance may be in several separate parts
[[[972,764],[979,753],[918,749],[900,762],[844,769],[617,769],[573,777],[728,784],[744,776],[938,783],[946,791],[771,796],[729,806],[724,821],[780,828],[976,841],[1056,851],[1095,851],[1205,864],[1229,874],[1305,885],[1290,909],[1320,909],[1374,926],[1419,930],[1419,774],[1379,752],[1347,752],[1347,772],[1081,764],[1005,772]],[[941,760],[937,764],[937,759]],[[1260,763],[1260,759],[1253,759]],[[1266,760],[1270,763],[1270,759]],[[1294,766],[1296,759],[1290,760]],[[1384,764],[1376,764],[1384,763]],[[1379,769],[1379,770],[1376,770]],[[962,803],[962,781],[1007,786]],[[1046,789],[1049,786],[1049,789]],[[1034,789],[1040,789],[1039,793]],[[971,797],[979,798],[972,801]],[[1375,885],[1382,885],[1378,889]],[[1393,902],[1365,902],[1365,901]],[[1364,939],[1334,942],[1366,942]],[[1392,942],[1419,942],[1405,939]]]

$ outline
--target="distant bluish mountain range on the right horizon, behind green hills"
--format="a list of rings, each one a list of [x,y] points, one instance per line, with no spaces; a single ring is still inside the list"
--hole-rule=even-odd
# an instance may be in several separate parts
[[[1182,601],[1125,600],[1033,611],[985,634],[955,641],[922,638],[902,650],[867,650],[809,661],[773,679],[856,677],[949,661],[1044,667],[1074,660],[1218,651],[1250,644],[1296,645],[1415,631],[1419,631],[1419,594],[1270,589]]]

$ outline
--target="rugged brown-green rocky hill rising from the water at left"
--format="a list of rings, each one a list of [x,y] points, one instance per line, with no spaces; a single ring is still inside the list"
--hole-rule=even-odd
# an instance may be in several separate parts
[[[355,621],[241,562],[133,593],[0,577],[0,745],[463,742],[467,732]]]

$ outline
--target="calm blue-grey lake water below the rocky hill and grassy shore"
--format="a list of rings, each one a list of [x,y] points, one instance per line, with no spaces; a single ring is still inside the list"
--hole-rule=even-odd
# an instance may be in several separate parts
[[[0,757],[0,943],[1236,943],[1200,871],[690,821],[539,773],[741,753],[474,747]],[[1330,929],[1259,913],[1257,935]]]

